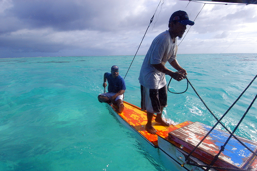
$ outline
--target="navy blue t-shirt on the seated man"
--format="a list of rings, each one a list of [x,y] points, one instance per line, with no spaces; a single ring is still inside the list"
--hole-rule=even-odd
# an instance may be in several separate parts
[[[111,73],[106,72],[105,77],[108,81],[109,93],[117,93],[120,90],[126,90],[125,81],[120,75],[116,78],[113,78]]]

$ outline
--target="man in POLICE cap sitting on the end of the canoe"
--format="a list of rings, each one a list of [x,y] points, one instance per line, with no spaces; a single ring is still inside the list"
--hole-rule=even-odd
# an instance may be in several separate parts
[[[103,87],[106,87],[106,80],[108,81],[108,93],[98,95],[98,100],[101,103],[113,103],[118,106],[118,112],[122,113],[124,110],[124,92],[126,85],[124,79],[119,75],[119,68],[114,65],[111,68],[111,73],[104,73]]]

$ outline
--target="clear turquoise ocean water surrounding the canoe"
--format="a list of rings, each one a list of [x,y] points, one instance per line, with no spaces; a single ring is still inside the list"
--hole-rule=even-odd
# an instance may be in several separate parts
[[[0,170],[179,170],[97,100],[104,91],[103,74],[117,65],[124,78],[132,59],[0,59]],[[124,100],[137,106],[143,59],[136,56],[125,77]],[[183,54],[177,60],[218,118],[257,74],[257,54]],[[172,69],[168,63],[166,67]],[[166,80],[168,83],[170,77]],[[186,80],[172,79],[169,89],[184,91]],[[228,129],[234,129],[256,92],[257,80],[222,120]],[[255,102],[236,135],[257,141],[256,113]],[[182,94],[168,92],[163,115],[171,123],[216,123],[191,87]]]

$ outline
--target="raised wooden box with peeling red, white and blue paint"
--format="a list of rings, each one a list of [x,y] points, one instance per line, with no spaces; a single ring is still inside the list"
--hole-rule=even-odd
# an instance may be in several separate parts
[[[188,149],[193,149],[212,127],[195,122],[169,133],[169,138]],[[229,133],[214,129],[198,147],[196,153],[211,161],[224,145]],[[237,136],[247,147],[257,151],[257,143]],[[244,168],[254,155],[240,144],[234,137],[230,139],[225,150],[219,156],[216,165],[233,168]]]

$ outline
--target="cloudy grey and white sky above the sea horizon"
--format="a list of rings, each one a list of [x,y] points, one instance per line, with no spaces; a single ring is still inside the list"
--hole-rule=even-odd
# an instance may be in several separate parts
[[[0,58],[135,55],[155,14],[137,52],[145,55],[177,10],[195,20],[178,54],[257,53],[257,5],[198,2],[0,0]]]

